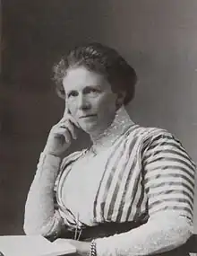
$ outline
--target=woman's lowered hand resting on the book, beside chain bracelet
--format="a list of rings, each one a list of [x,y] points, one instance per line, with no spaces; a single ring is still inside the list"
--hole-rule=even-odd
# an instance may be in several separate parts
[[[62,244],[64,246],[65,243],[70,243],[76,248],[76,253],[78,255],[87,256],[90,252],[90,242],[81,242],[73,239],[57,239],[56,243]]]

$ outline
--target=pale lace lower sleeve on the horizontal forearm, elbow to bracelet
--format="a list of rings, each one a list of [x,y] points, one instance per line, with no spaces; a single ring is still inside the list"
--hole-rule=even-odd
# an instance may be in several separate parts
[[[97,255],[142,256],[167,252],[184,244],[192,232],[192,222],[186,217],[163,212],[127,233],[97,239]]]

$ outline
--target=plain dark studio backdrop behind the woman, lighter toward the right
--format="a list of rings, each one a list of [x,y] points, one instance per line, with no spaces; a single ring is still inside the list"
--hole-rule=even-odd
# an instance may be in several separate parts
[[[39,153],[64,110],[51,69],[80,43],[118,49],[139,75],[132,119],[167,128],[197,162],[196,0],[4,0],[1,8],[0,234],[22,234]]]

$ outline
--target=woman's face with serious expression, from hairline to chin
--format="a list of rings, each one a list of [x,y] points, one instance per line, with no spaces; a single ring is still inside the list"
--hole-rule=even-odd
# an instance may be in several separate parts
[[[97,134],[112,123],[117,94],[103,75],[79,66],[68,70],[63,85],[65,104],[85,132]]]

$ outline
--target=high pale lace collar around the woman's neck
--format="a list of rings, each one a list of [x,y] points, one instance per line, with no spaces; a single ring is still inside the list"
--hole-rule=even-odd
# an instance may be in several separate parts
[[[122,106],[116,111],[115,119],[111,125],[92,141],[92,151],[96,154],[102,149],[112,146],[116,139],[120,137],[127,128],[133,126],[133,124],[129,114],[124,106]]]

